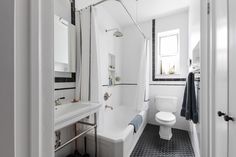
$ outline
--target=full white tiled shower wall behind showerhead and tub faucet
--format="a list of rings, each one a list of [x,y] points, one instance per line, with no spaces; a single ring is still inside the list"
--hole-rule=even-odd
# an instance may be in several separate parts
[[[100,52],[100,68],[101,68],[101,95],[103,99],[104,93],[108,92],[111,97],[107,101],[102,101],[102,108],[99,114],[99,122],[103,121],[103,111],[105,105],[113,106],[114,108],[120,105],[120,87],[107,86],[108,85],[108,54],[115,55],[116,58],[116,76],[121,75],[121,57],[122,57],[122,40],[113,36],[114,31],[106,32],[106,29],[120,28],[119,24],[114,21],[109,12],[103,7],[96,8],[97,24],[98,24],[98,38],[99,38],[99,52]]]

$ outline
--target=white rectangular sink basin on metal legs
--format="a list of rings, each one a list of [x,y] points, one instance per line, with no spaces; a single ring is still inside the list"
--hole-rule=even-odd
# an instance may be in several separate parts
[[[93,102],[78,102],[55,106],[54,130],[62,129],[98,112],[99,107],[101,107],[101,104]]]

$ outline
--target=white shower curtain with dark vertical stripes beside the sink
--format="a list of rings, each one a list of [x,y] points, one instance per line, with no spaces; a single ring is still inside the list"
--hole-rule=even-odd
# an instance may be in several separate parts
[[[100,66],[96,9],[76,13],[77,72],[76,99],[100,102]]]

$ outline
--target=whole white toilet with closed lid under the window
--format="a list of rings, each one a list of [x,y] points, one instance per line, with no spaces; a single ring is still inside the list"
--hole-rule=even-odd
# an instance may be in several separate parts
[[[176,117],[173,113],[177,110],[177,98],[156,97],[155,104],[158,110],[155,120],[160,124],[160,138],[170,140],[172,137],[171,127],[176,122]]]

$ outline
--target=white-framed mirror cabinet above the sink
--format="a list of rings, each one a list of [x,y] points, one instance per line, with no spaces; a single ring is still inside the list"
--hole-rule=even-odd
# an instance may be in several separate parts
[[[75,26],[57,15],[54,15],[54,71],[76,71]]]

